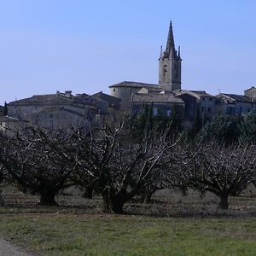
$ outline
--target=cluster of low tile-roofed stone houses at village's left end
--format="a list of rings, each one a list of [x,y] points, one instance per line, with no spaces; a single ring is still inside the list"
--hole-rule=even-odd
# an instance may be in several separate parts
[[[26,120],[44,128],[87,127],[99,115],[108,113],[108,102],[71,90],[36,95],[8,104],[9,117]]]

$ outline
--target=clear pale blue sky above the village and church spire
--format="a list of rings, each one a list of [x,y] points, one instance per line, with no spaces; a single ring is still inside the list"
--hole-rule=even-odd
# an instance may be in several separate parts
[[[182,88],[256,86],[254,0],[0,0],[0,104],[56,90],[158,83],[172,20]]]

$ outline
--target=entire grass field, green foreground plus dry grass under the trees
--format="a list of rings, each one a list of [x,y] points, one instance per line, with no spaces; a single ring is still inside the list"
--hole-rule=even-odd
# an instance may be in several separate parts
[[[100,213],[100,197],[39,207],[35,196],[5,195],[0,236],[36,255],[256,255],[254,195],[231,198],[223,212],[212,196],[158,195],[119,216]]]

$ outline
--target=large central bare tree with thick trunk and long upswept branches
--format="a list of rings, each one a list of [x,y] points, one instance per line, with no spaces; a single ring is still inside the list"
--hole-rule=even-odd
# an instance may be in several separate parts
[[[131,120],[116,124],[113,120],[80,137],[76,180],[102,194],[105,212],[121,213],[126,201],[160,177],[160,166],[178,139],[152,130],[135,142],[127,127]]]

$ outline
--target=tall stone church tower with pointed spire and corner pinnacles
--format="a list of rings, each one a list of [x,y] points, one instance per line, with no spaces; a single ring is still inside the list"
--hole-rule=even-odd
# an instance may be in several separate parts
[[[170,22],[166,50],[162,47],[159,58],[159,85],[164,90],[181,89],[181,62],[180,47],[175,49],[172,21]]]

